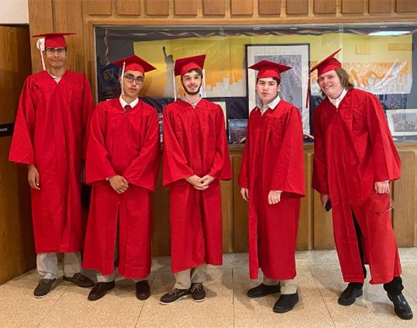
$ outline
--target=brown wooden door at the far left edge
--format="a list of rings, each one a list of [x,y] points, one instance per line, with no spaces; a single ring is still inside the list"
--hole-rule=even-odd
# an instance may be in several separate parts
[[[0,124],[15,121],[24,79],[31,74],[28,28],[0,26]],[[35,265],[26,167],[8,161],[12,137],[0,136],[0,284]]]

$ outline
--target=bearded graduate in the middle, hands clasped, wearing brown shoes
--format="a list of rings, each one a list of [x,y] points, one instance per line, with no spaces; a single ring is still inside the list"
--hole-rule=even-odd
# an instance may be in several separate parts
[[[205,263],[222,264],[220,180],[231,179],[224,114],[200,95],[206,55],[175,60],[184,95],[163,108],[163,186],[170,188],[171,268],[167,305],[203,302]]]

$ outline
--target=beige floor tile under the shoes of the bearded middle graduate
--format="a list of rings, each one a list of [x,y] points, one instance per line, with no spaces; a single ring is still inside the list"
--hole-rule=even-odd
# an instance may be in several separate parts
[[[193,302],[189,296],[170,305],[159,304],[159,299],[172,288],[174,277],[171,272],[158,272],[152,285],[154,295],[145,302],[136,327],[233,327],[231,272],[229,268],[208,269],[204,302]]]

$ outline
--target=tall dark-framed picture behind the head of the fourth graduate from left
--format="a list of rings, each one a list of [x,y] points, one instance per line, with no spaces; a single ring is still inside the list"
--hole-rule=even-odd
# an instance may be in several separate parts
[[[309,107],[306,104],[309,83],[309,44],[246,44],[247,67],[261,60],[293,67],[281,75],[279,97],[300,110],[303,132],[310,133]],[[247,101],[251,111],[259,98],[256,95],[256,74],[254,69],[247,69]]]

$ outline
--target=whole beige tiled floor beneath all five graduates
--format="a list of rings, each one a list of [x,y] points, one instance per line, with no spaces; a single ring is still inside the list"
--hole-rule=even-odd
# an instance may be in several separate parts
[[[400,249],[400,256],[404,295],[417,314],[417,248]],[[247,254],[227,254],[221,267],[208,266],[205,302],[186,298],[160,305],[159,297],[174,284],[169,264],[169,258],[154,259],[146,301],[136,299],[132,281],[120,278],[96,302],[87,300],[88,290],[62,279],[47,297],[35,299],[38,275],[32,270],[0,286],[0,327],[417,327],[417,318],[394,315],[382,286],[366,284],[354,305],[338,305],[345,284],[334,251],[297,252],[300,302],[284,314],[272,312],[277,295],[246,296],[258,284],[249,279]]]

